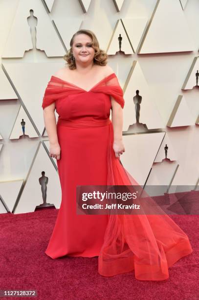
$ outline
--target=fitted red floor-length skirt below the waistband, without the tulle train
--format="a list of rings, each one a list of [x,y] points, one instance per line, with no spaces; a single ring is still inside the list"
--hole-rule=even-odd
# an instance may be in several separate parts
[[[51,258],[93,257],[102,248],[109,215],[76,214],[76,186],[107,184],[109,125],[107,121],[103,124],[93,127],[93,122],[78,125],[63,120],[57,125],[62,202],[45,251]]]

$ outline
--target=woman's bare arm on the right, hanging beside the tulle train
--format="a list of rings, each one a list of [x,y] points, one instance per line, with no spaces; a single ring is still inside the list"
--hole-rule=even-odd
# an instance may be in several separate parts
[[[122,141],[123,109],[118,102],[111,97],[111,119],[114,133],[113,150],[115,156],[123,154],[125,148]]]

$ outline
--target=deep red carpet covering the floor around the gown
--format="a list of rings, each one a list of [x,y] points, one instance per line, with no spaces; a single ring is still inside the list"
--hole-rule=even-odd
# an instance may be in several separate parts
[[[58,210],[0,214],[0,290],[37,290],[39,300],[199,299],[199,216],[170,216],[187,233],[193,253],[169,268],[165,281],[139,281],[134,272],[103,277],[98,257],[51,259],[44,251]],[[78,243],[78,241],[77,241]]]

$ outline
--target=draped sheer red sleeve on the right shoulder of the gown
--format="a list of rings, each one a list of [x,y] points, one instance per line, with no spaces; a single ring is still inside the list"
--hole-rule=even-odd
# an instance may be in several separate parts
[[[115,73],[112,73],[99,82],[93,92],[100,92],[100,90],[103,93],[110,95],[122,108],[124,108],[125,101],[123,98],[123,90]]]

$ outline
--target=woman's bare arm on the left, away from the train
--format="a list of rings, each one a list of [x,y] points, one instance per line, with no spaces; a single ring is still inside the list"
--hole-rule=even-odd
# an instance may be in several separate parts
[[[57,137],[57,124],[55,118],[55,103],[44,108],[44,124],[50,143],[49,156],[60,159],[60,145]]]

